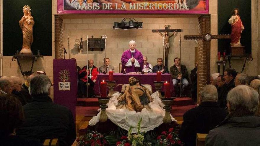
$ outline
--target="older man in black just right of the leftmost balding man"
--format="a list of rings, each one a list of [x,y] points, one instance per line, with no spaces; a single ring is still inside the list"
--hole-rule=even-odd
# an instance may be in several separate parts
[[[17,99],[19,99],[22,105],[27,104],[25,96],[23,96],[23,94],[20,92],[22,87],[22,80],[16,76],[10,76],[10,78],[14,81],[14,89],[12,91],[12,94],[15,95]]]

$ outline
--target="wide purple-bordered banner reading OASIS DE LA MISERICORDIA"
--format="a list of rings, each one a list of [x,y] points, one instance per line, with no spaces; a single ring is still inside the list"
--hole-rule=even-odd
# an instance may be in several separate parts
[[[209,0],[57,0],[58,14],[208,14]]]

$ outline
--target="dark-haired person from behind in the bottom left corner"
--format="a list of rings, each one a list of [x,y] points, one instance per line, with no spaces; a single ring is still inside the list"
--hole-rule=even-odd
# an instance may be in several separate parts
[[[10,95],[0,95],[0,145],[1,146],[40,146],[39,141],[26,140],[16,135],[24,114],[21,102]]]

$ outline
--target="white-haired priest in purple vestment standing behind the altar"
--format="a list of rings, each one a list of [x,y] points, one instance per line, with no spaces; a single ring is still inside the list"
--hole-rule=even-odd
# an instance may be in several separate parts
[[[122,57],[122,70],[121,73],[126,70],[126,73],[142,71],[141,65],[144,63],[143,55],[135,48],[135,41],[129,42],[129,50],[126,50]]]

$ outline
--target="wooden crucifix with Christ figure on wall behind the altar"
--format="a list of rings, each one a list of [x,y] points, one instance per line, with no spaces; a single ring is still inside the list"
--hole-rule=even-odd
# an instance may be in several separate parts
[[[165,63],[165,66],[168,66],[168,53],[169,53],[169,48],[170,48],[169,38],[172,37],[175,32],[182,32],[182,29],[169,29],[169,28],[170,28],[170,25],[165,25],[165,29],[152,29],[152,32],[157,32],[157,33],[159,33],[159,35],[161,35],[163,37],[163,46],[164,46],[163,62]],[[164,35],[161,32],[164,32]],[[169,35],[169,32],[173,32],[173,34]],[[165,58],[164,58],[164,56],[165,56]]]

